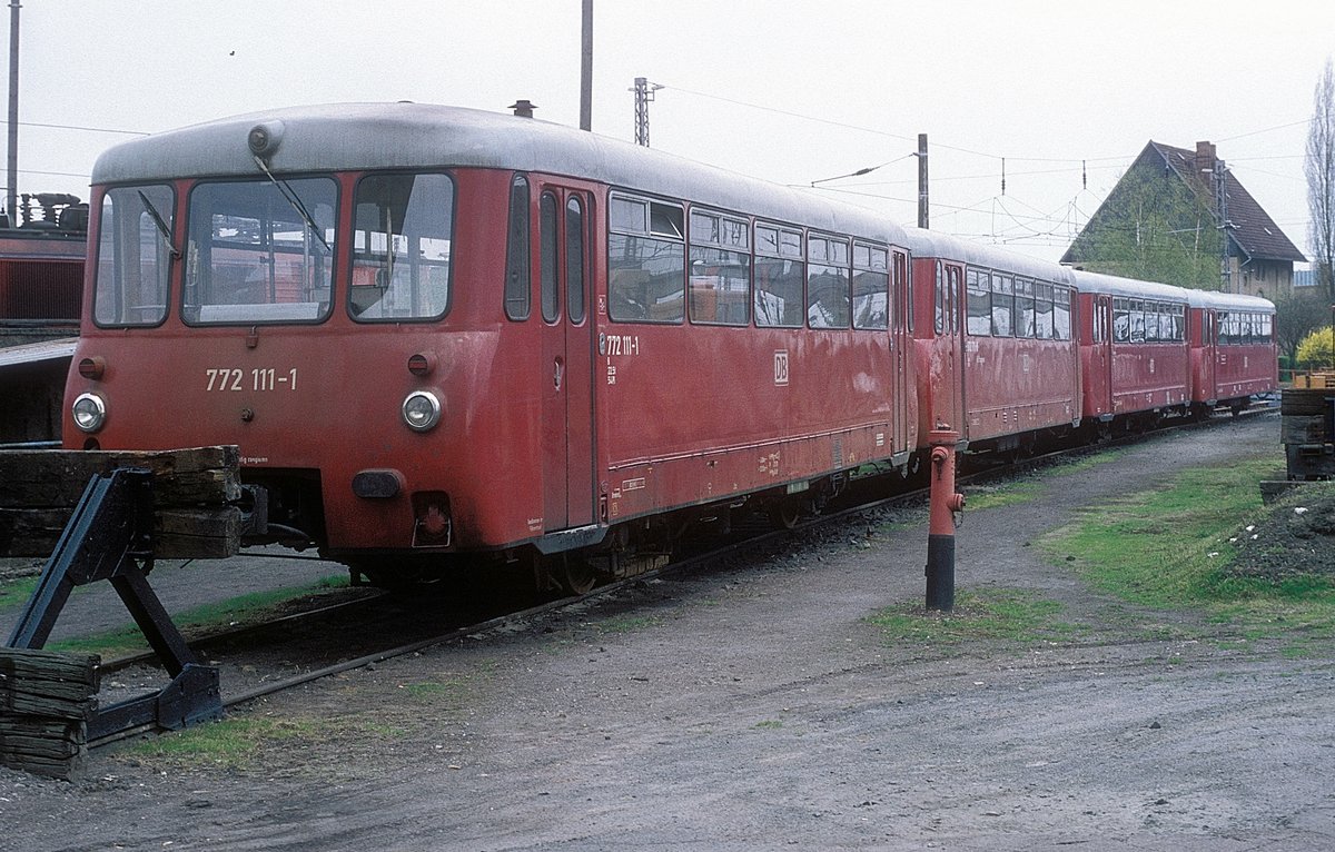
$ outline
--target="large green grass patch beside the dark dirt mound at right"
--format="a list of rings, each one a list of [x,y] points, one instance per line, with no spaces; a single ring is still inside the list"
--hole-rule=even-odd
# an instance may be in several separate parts
[[[1139,606],[1199,612],[1247,641],[1282,638],[1286,653],[1304,656],[1335,640],[1335,582],[1228,570],[1230,537],[1264,514],[1258,482],[1275,478],[1283,478],[1278,454],[1185,470],[1163,489],[1081,510],[1039,546],[1100,592]]]

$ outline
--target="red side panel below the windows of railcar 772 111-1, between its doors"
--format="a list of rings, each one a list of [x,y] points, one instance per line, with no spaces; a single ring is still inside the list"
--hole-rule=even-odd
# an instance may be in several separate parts
[[[627,326],[602,316],[609,519],[773,487],[894,446],[889,333]]]

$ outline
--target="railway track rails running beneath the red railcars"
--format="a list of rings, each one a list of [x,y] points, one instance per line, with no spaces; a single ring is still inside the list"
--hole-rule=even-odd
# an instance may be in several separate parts
[[[1276,410],[1278,409],[1254,409],[1250,411],[1244,411],[1242,417],[1263,417],[1266,414],[1272,414]],[[1222,418],[1214,418],[1202,421],[1199,423],[1189,423],[1189,425],[1184,423],[1183,426],[1191,429],[1202,429],[1202,427],[1208,429],[1211,426],[1223,425],[1226,422],[1228,421]],[[1065,461],[1073,455],[1096,453],[1099,450],[1113,446],[1136,443],[1145,438],[1155,437],[1156,434],[1159,434],[1159,431],[1161,430],[1155,430],[1148,434],[1125,435],[1109,441],[1107,443],[1099,445],[1096,447],[1089,447],[1089,446],[1072,447],[1065,450],[1057,450],[1053,453],[1047,453],[1043,455],[1035,455],[1021,461],[1012,461],[1009,463],[988,467],[985,470],[977,470],[973,473],[961,474],[957,482],[960,486],[967,486],[971,483],[977,485],[989,479],[999,479],[1009,475],[1016,475],[1020,473],[1027,473],[1031,470],[1041,469],[1047,465]],[[238,706],[254,702],[259,698],[264,698],[288,689],[294,689],[296,686],[302,686],[312,681],[323,680],[327,677],[335,677],[338,674],[354,669],[383,662],[386,660],[392,660],[395,657],[417,653],[435,645],[457,642],[469,636],[486,633],[513,624],[537,621],[545,616],[559,613],[561,610],[571,608],[574,605],[586,606],[590,601],[598,601],[623,594],[634,585],[642,584],[646,580],[686,573],[692,570],[708,570],[710,566],[736,558],[738,554],[745,553],[748,556],[754,556],[757,552],[765,552],[769,548],[777,548],[778,545],[792,541],[794,538],[804,538],[816,530],[824,527],[832,527],[837,523],[846,522],[850,518],[861,517],[869,511],[881,509],[893,509],[893,507],[921,506],[925,502],[925,498],[926,498],[926,489],[910,489],[888,497],[877,497],[874,499],[861,501],[857,502],[856,505],[836,506],[824,514],[812,518],[804,518],[790,529],[785,527],[766,529],[762,531],[752,529],[736,537],[734,540],[722,542],[705,552],[676,560],[662,568],[653,569],[625,580],[617,580],[601,585],[585,596],[561,597],[550,601],[543,601],[541,604],[531,606],[522,606],[519,609],[505,609],[503,612],[486,613],[485,617],[481,618],[478,618],[478,613],[475,610],[454,613],[453,618],[450,618],[449,614],[442,617],[441,612],[433,606],[430,609],[433,620],[435,620],[437,622],[446,620],[447,624],[449,621],[453,621],[454,624],[450,624],[450,626],[446,626],[445,629],[426,630],[425,634],[414,636],[413,638],[390,648],[368,650],[366,653],[359,653],[347,658],[340,658],[327,665],[316,665],[306,668],[292,674],[275,676],[268,680],[262,678],[263,682],[236,689],[230,694],[224,693],[223,706],[224,709],[235,709]],[[372,594],[354,601],[343,601],[335,605],[322,606],[303,613],[283,616],[276,620],[270,620],[254,625],[246,625],[243,628],[238,628],[234,630],[226,630],[199,637],[192,641],[192,646],[196,650],[207,650],[207,649],[220,648],[228,642],[259,640],[263,638],[266,634],[272,634],[274,632],[283,629],[296,628],[299,629],[298,632],[304,632],[314,621],[331,620],[335,617],[346,617],[346,616],[356,616],[358,624],[360,625],[359,630],[362,630],[363,633],[367,632],[374,633],[374,629],[367,630],[364,626],[366,625],[364,616],[367,610],[376,606],[383,608],[388,601],[392,601],[392,597],[394,596],[383,593]],[[392,622],[395,618],[399,617],[399,614],[400,610],[394,610],[392,608],[390,608],[387,610],[387,614],[382,613],[379,617],[386,617],[388,618],[388,621]],[[402,632],[399,634],[402,636]],[[1131,642],[1117,642],[1116,645],[1137,644],[1137,642],[1143,641],[1135,640]],[[208,657],[207,654],[203,656],[206,658]],[[148,666],[155,662],[156,662],[156,656],[152,653],[135,654],[132,657],[121,657],[117,660],[108,661],[103,666],[103,672],[104,674],[119,673],[129,670],[135,666]],[[105,745],[117,742],[128,737],[150,733],[151,730],[152,728],[146,725],[146,726],[138,726],[115,732],[104,737],[99,737],[96,740],[89,741],[89,747],[95,749],[103,748]]]

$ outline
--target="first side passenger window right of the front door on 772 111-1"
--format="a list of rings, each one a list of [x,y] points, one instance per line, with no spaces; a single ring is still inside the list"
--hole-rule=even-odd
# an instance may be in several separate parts
[[[677,204],[611,196],[607,311],[618,322],[680,323],[686,302],[686,244]]]

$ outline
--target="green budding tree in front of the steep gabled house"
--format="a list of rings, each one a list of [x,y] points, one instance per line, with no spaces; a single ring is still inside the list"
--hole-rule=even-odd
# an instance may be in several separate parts
[[[1161,168],[1133,168],[1071,247],[1095,272],[1219,290],[1223,238],[1204,199]]]

